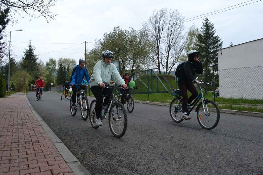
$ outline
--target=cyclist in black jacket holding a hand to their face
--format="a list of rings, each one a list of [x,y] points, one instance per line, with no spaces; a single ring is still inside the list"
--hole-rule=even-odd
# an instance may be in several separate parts
[[[203,68],[202,63],[199,61],[199,52],[196,50],[191,50],[188,52],[188,61],[186,61],[182,67],[182,72],[180,77],[178,78],[178,86],[180,92],[182,94],[182,110],[183,110],[183,119],[190,119],[187,115],[187,104],[191,104],[191,102],[198,96],[198,91],[195,88],[193,81],[195,73],[202,74]],[[198,81],[195,80],[196,84],[199,84]],[[188,98],[187,89],[192,93],[192,95]]]

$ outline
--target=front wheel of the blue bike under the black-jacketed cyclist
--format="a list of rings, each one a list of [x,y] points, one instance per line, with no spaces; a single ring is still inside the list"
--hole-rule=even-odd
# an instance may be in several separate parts
[[[220,112],[215,102],[205,100],[205,103],[199,103],[197,108],[198,123],[205,129],[213,129],[219,122]]]

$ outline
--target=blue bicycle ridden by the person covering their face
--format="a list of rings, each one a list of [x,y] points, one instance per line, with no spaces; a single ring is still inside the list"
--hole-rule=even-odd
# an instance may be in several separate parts
[[[203,97],[202,85],[212,85],[212,82],[207,83],[200,81],[199,84],[197,84],[197,86],[200,87],[200,92],[196,99],[192,102],[192,104],[187,105],[187,114],[190,115],[191,111],[197,105],[199,100],[201,100],[201,102],[197,105],[195,109],[198,123],[204,129],[213,129],[219,122],[219,108],[214,101],[208,100],[207,98]],[[170,116],[174,122],[180,123],[184,120],[182,118],[182,94],[179,89],[173,89],[173,91],[175,93],[173,94],[174,99],[170,104]]]

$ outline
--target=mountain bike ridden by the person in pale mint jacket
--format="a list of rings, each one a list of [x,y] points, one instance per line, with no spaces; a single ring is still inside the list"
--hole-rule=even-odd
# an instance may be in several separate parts
[[[103,97],[110,96],[111,98],[107,106],[102,108],[101,120],[106,119],[107,111],[110,108],[109,111],[110,130],[113,136],[120,138],[125,134],[127,129],[127,113],[124,106],[121,103],[119,103],[118,100],[116,100],[113,91],[115,88],[121,87],[121,85],[118,86],[113,84],[105,84],[105,85],[106,85],[105,88],[111,88],[111,94],[107,94]],[[90,115],[91,126],[97,129],[99,126],[96,125],[96,119],[97,119],[96,111],[95,111],[96,101],[97,100],[91,101],[89,115]]]

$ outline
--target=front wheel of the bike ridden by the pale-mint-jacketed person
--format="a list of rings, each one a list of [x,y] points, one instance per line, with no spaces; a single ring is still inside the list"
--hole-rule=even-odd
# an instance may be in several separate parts
[[[121,108],[122,110],[119,110]],[[110,108],[109,112],[109,125],[113,136],[122,137],[127,129],[127,113],[124,106],[117,102],[113,102],[113,108]]]

